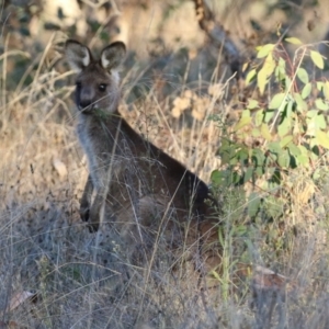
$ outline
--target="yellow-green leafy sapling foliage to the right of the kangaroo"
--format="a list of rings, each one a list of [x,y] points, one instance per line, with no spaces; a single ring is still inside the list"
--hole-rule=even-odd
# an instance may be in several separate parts
[[[324,58],[295,37],[285,42],[297,46],[293,58],[282,42],[258,47],[257,61],[246,75],[246,83],[256,83],[257,92],[236,125],[223,134],[217,151],[222,168],[212,173],[214,190],[246,191],[247,215],[254,223],[282,218],[294,172],[313,179],[314,163],[329,149],[329,81],[317,81],[309,72],[309,67],[324,69]],[[266,230],[277,248],[287,246],[273,228]]]

